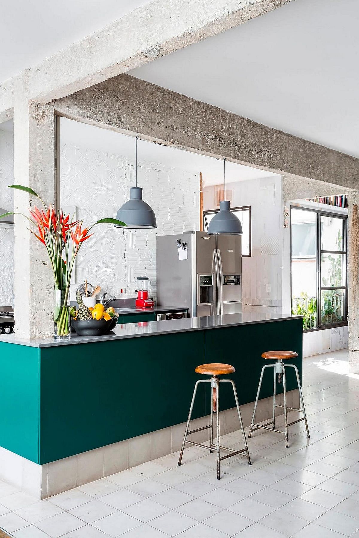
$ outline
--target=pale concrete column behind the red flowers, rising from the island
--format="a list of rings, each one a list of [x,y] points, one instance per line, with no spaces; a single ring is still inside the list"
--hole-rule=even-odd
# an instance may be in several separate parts
[[[14,123],[15,182],[32,188],[46,203],[55,200],[55,130],[52,105],[16,104]],[[41,202],[15,190],[15,211],[29,215]],[[53,335],[53,275],[46,249],[15,215],[15,327],[23,338]]]

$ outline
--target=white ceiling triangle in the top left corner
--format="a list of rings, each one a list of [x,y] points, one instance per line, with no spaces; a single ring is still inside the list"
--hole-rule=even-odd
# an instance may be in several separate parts
[[[0,82],[150,0],[1,1]]]

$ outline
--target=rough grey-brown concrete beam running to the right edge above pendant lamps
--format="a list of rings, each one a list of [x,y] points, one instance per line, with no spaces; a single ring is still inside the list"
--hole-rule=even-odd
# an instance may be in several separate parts
[[[359,159],[122,74],[54,102],[59,115],[296,179],[359,188]]]

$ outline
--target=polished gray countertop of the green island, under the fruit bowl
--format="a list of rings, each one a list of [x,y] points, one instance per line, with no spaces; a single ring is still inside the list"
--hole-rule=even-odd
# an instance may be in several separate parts
[[[104,336],[77,336],[72,335],[70,340],[57,340],[51,338],[18,338],[16,335],[1,335],[0,342],[32,346],[34,348],[48,348],[54,345],[84,344],[93,342],[107,342],[122,338],[135,338],[140,336],[163,335],[175,332],[186,332],[220,327],[233,327],[235,325],[250,325],[253,323],[271,323],[298,319],[303,316],[290,314],[257,314],[245,312],[243,314],[225,314],[222,316],[188,317],[183,320],[148,321],[141,323],[119,324],[109,334]]]

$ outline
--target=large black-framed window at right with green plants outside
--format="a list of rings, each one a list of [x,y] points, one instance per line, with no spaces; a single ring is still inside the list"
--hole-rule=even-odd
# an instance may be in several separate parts
[[[346,216],[291,208],[291,295],[304,330],[348,323]]]

